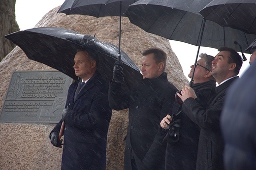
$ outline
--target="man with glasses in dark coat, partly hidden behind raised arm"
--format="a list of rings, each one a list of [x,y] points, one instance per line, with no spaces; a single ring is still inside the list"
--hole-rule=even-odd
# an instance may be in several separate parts
[[[214,57],[204,53],[199,57],[195,69],[194,65],[191,66],[189,77],[192,78],[194,69],[192,88],[197,96],[196,101],[205,109],[210,96],[215,93],[216,81],[211,75]],[[168,114],[160,123],[161,127],[166,129],[171,123],[172,117],[174,118],[172,123],[181,120],[181,123],[178,124],[180,127],[175,127],[173,124],[174,126],[168,127],[167,130],[160,130],[167,141],[165,170],[194,170],[196,166],[200,128],[180,111],[181,105],[174,102],[171,112],[173,115]]]

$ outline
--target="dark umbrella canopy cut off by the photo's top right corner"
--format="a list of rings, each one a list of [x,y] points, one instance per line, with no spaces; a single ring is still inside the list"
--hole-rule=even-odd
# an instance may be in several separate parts
[[[256,34],[256,0],[213,0],[199,13],[223,27]]]

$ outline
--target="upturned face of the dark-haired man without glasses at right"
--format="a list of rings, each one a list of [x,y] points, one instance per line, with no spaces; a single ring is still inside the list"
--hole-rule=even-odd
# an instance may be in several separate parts
[[[230,56],[230,52],[221,51],[215,56],[214,60],[212,61],[212,75],[216,80],[218,79],[218,77],[225,78],[225,76],[227,75],[229,71],[229,64],[228,64],[229,56]]]

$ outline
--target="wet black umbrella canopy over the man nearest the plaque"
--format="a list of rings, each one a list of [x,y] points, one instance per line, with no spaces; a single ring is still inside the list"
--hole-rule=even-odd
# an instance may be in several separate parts
[[[112,69],[117,60],[118,48],[91,35],[64,28],[32,28],[4,37],[18,45],[30,59],[55,68],[73,79],[78,79],[73,68],[77,48],[92,49],[98,54],[97,69],[103,79],[109,82],[113,78]],[[121,54],[125,81],[131,87],[142,75],[128,55],[123,51]]]

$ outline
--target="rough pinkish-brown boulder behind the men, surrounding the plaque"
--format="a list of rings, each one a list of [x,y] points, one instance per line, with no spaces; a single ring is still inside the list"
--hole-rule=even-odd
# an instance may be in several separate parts
[[[82,34],[96,33],[96,38],[118,46],[119,18],[95,18],[83,15],[58,13],[59,7],[48,12],[35,27],[59,27]],[[178,58],[169,41],[160,36],[146,33],[122,18],[121,49],[140,66],[141,53],[150,47],[159,47],[167,52],[168,80],[181,89],[188,84]],[[32,61],[15,47],[0,62],[0,110],[6,95],[12,71],[53,70]],[[51,145],[49,133],[54,124],[0,123],[0,170],[58,170],[61,166],[62,149]],[[128,110],[113,111],[108,131],[107,170],[122,170],[128,126]]]

